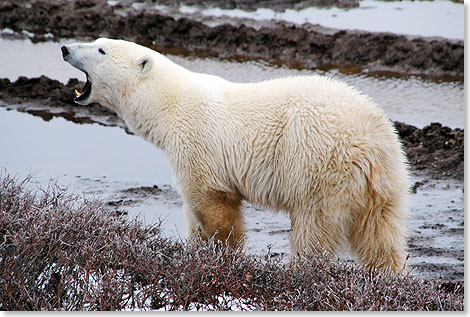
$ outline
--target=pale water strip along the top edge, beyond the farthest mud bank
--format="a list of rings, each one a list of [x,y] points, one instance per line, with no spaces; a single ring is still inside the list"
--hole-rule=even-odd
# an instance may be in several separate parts
[[[155,8],[166,12],[173,10],[165,6]],[[182,16],[200,16],[199,19],[203,21],[207,17],[282,20],[296,24],[320,24],[334,29],[464,39],[464,6],[452,1],[361,0],[358,8],[310,7],[301,10],[287,9],[284,12],[265,8],[255,11],[215,7],[202,9],[183,5],[178,11]],[[217,25],[226,21],[220,19],[205,22],[208,25]]]

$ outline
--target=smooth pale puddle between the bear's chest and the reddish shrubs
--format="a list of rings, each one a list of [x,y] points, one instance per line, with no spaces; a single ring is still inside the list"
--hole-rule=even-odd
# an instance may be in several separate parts
[[[172,182],[163,151],[121,128],[79,125],[63,118],[45,122],[0,108],[0,135],[0,167],[13,175],[31,173],[41,185],[55,179],[61,186],[100,192],[100,183]]]

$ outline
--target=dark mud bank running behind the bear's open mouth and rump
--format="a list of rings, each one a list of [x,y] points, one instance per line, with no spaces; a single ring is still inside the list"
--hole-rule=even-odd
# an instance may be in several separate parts
[[[73,91],[81,90],[83,85],[83,82],[76,79],[71,79],[64,85],[45,76],[20,77],[15,82],[0,79],[0,105],[40,116],[44,120],[63,117],[76,123],[119,126],[129,132],[115,113],[98,104],[87,107],[74,105]],[[440,123],[431,123],[423,129],[402,122],[395,122],[395,126],[416,173],[426,173],[433,178],[463,180],[463,129],[451,129]]]

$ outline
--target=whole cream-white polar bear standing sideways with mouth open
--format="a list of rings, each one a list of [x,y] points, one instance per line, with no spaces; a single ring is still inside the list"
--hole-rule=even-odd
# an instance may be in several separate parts
[[[76,103],[163,149],[190,232],[242,242],[246,200],[288,214],[292,254],[346,245],[366,267],[402,270],[409,172],[367,96],[319,75],[233,83],[123,40],[61,49],[87,77]]]

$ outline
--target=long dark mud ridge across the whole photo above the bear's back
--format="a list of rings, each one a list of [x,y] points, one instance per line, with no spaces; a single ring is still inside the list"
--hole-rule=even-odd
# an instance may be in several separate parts
[[[464,43],[392,33],[344,31],[318,25],[267,23],[210,27],[129,2],[105,0],[0,3],[0,29],[29,32],[34,41],[60,38],[124,38],[159,51],[235,59],[263,59],[297,68],[338,68],[344,72],[420,75],[463,80]]]

